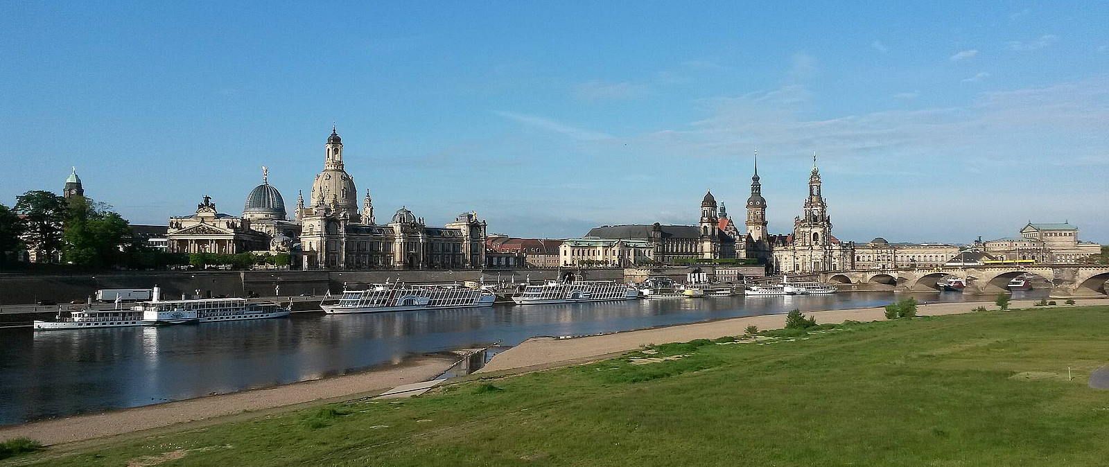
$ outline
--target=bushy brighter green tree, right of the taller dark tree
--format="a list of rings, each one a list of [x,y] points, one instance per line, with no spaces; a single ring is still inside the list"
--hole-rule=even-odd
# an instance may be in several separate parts
[[[123,264],[133,238],[126,220],[103,203],[84,196],[68,200],[62,258],[88,267]]]

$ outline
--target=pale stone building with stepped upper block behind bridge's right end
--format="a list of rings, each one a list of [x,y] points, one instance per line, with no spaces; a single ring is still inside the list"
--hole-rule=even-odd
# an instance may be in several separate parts
[[[1028,222],[1020,236],[990,240],[976,245],[999,261],[1032,260],[1037,263],[1075,264],[1101,253],[1101,245],[1078,240],[1078,227],[1069,222]]]

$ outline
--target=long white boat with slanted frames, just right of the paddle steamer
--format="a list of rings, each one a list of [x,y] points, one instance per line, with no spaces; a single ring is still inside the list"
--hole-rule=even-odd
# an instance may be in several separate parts
[[[322,303],[332,314],[404,312],[436,308],[492,306],[496,295],[460,285],[377,284],[365,290],[345,290],[335,303]]]

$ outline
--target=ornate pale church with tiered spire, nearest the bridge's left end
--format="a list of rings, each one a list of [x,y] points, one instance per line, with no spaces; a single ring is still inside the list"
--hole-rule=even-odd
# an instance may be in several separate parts
[[[832,217],[821,193],[815,154],[804,213],[794,219],[793,234],[779,238],[772,248],[774,270],[779,273],[843,271],[854,266],[854,245],[842,243],[832,235]]]

